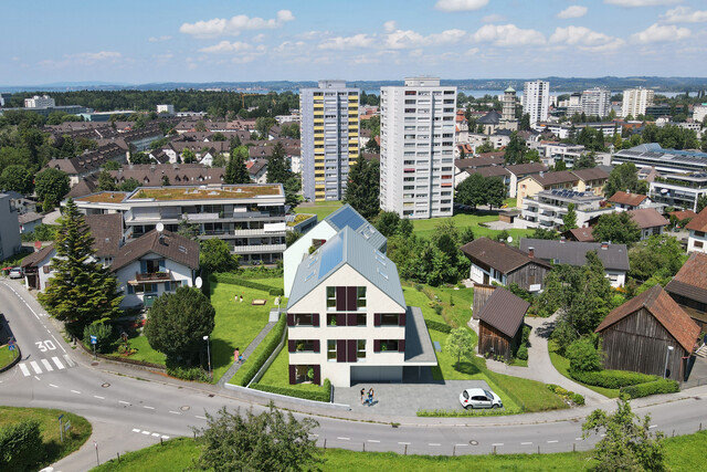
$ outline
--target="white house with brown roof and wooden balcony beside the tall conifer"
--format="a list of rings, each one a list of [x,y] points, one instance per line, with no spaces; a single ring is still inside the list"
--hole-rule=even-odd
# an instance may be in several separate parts
[[[122,308],[149,307],[163,293],[193,286],[199,243],[170,231],[152,230],[118,249],[110,270],[125,297]]]

